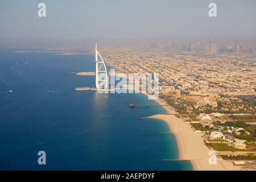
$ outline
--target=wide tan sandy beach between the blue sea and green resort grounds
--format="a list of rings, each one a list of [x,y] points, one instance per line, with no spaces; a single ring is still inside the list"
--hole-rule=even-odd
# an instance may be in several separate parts
[[[217,158],[217,164],[209,164],[210,149],[205,146],[203,141],[203,134],[197,133],[192,130],[192,126],[186,123],[181,118],[177,118],[174,108],[167,105],[166,101],[157,99],[155,100],[159,105],[167,111],[168,114],[152,115],[148,118],[162,119],[174,132],[177,147],[179,150],[179,159],[191,160],[193,170],[240,170],[238,166],[233,163]],[[170,133],[172,135],[172,133]],[[166,161],[168,162],[168,161]]]

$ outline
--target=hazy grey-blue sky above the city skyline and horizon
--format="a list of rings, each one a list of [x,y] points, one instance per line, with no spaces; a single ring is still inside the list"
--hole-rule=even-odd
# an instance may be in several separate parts
[[[46,17],[38,3],[46,3]],[[217,17],[208,16],[210,2]],[[1,0],[0,45],[171,40],[256,45],[255,0]]]

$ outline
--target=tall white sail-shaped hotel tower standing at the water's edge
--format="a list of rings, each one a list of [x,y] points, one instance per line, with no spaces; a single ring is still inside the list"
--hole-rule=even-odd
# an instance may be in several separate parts
[[[95,46],[95,86],[97,89],[109,89],[109,73],[105,61]]]

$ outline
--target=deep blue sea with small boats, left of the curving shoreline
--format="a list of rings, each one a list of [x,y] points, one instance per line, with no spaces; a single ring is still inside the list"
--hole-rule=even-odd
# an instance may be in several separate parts
[[[177,159],[174,135],[159,106],[142,94],[99,94],[93,55],[0,50],[0,170],[191,170]],[[29,49],[32,51],[32,49]],[[38,51],[38,49],[36,50]],[[42,51],[40,49],[40,51]],[[10,92],[9,90],[13,90]],[[46,152],[46,165],[38,164]]]

